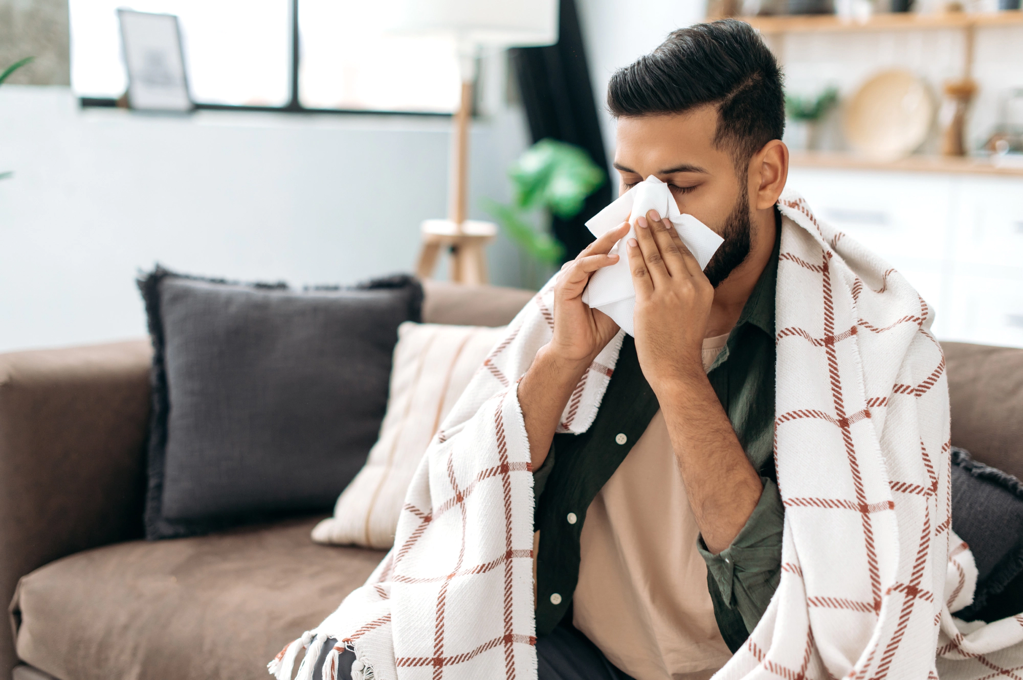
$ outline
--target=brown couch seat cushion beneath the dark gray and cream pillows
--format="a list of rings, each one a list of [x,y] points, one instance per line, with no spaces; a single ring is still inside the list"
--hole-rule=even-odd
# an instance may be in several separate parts
[[[60,680],[263,680],[383,552],[317,545],[321,518],[119,543],[24,577],[17,653]]]

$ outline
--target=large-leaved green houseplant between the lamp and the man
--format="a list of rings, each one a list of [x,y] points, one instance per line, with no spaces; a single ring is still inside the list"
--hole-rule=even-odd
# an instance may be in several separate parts
[[[523,152],[508,168],[508,178],[513,202],[488,200],[485,207],[526,255],[523,284],[538,288],[565,254],[565,246],[550,233],[550,215],[571,220],[579,214],[586,197],[607,178],[583,149],[552,139]]]

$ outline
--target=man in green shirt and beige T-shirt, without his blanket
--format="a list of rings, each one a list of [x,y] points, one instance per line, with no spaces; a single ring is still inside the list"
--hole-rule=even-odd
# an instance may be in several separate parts
[[[565,434],[551,448],[573,390],[618,333],[581,296],[594,271],[617,261],[607,253],[628,227],[591,244],[554,285],[553,337],[519,385],[543,489],[540,678],[595,677],[560,663],[565,645],[585,639],[555,628],[573,620],[595,643],[578,653],[589,646],[628,676],[709,676],[756,626],[781,569],[770,453],[775,204],[789,160],[782,76],[747,25],[703,25],[615,74],[608,105],[620,191],[655,176],[681,212],[725,241],[705,274],[666,215],[652,211],[621,249],[636,288],[635,342],[623,345],[591,427],[607,423],[621,444]],[[623,408],[637,399],[642,407]],[[563,519],[570,512],[575,526]]]

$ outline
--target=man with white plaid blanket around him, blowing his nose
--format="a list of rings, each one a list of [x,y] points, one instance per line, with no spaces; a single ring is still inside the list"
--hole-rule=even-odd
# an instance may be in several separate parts
[[[932,314],[785,189],[759,37],[676,31],[608,101],[621,190],[658,178],[722,246],[701,272],[649,213],[563,268],[441,425],[394,549],[271,672],[305,650],[302,680],[1013,677],[1023,626],[950,614],[976,569]],[[581,301],[622,256],[634,338]]]

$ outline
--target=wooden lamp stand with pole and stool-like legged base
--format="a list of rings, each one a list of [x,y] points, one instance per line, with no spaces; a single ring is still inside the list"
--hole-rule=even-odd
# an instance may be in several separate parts
[[[422,246],[415,274],[430,279],[437,268],[441,250],[451,254],[450,279],[455,283],[487,283],[484,246],[494,240],[497,226],[489,222],[465,220],[469,202],[469,128],[473,112],[473,81],[463,76],[461,101],[454,114],[451,131],[451,180],[447,220],[427,220],[420,227]]]

